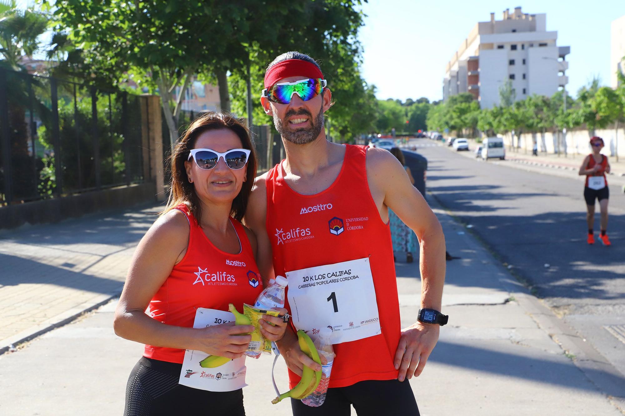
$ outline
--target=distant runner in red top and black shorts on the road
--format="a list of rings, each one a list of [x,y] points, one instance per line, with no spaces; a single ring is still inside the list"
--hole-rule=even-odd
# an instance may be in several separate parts
[[[601,154],[604,146],[603,139],[594,136],[590,140],[592,153],[584,159],[579,168],[579,175],[586,175],[584,186],[584,200],[586,200],[586,221],[588,223],[587,243],[594,244],[594,201],[599,201],[601,207],[601,234],[599,240],[603,245],[609,246],[607,238],[607,201],[610,198],[610,190],[607,188],[606,173],[610,173],[610,164],[607,156]]]

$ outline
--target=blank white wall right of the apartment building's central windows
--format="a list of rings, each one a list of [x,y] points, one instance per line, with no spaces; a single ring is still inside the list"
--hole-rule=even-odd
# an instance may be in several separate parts
[[[557,46],[527,49],[527,94],[551,97],[557,91]],[[546,59],[543,59],[546,58]]]

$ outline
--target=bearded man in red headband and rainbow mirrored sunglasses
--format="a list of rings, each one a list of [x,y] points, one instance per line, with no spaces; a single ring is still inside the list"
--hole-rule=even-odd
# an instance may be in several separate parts
[[[386,150],[326,140],[332,105],[321,68],[289,52],[269,64],[261,103],[282,136],[286,160],[256,178],[246,224],[257,235],[258,266],[285,275],[296,329],[332,329],[334,362],[321,407],[291,400],[294,415],[419,414],[406,378],[418,376],[439,337],[445,276],[441,225],[401,163]],[[389,208],[420,241],[421,311],[401,328]],[[315,369],[294,332],[278,343],[291,386]]]

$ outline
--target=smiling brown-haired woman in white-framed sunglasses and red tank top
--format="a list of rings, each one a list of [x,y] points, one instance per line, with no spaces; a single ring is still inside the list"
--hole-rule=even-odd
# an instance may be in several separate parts
[[[229,115],[202,116],[176,145],[171,172],[168,205],[139,243],[115,313],[116,334],[145,344],[124,415],[205,414],[208,406],[244,415],[241,357],[251,336],[239,334],[254,327],[219,323],[232,319],[228,303],[242,311],[262,290],[256,238],[239,222],[256,176],[249,132]],[[212,325],[196,322],[199,315]],[[263,317],[264,337],[281,339],[282,318]],[[183,373],[186,350],[193,363],[207,355],[232,361]]]

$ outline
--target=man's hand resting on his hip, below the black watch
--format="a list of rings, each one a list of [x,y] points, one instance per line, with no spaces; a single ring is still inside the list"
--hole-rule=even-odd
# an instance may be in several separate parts
[[[412,375],[419,377],[438,341],[440,331],[440,325],[421,322],[402,330],[395,353],[395,369],[399,369],[397,380],[402,382],[406,376],[410,379]]]

